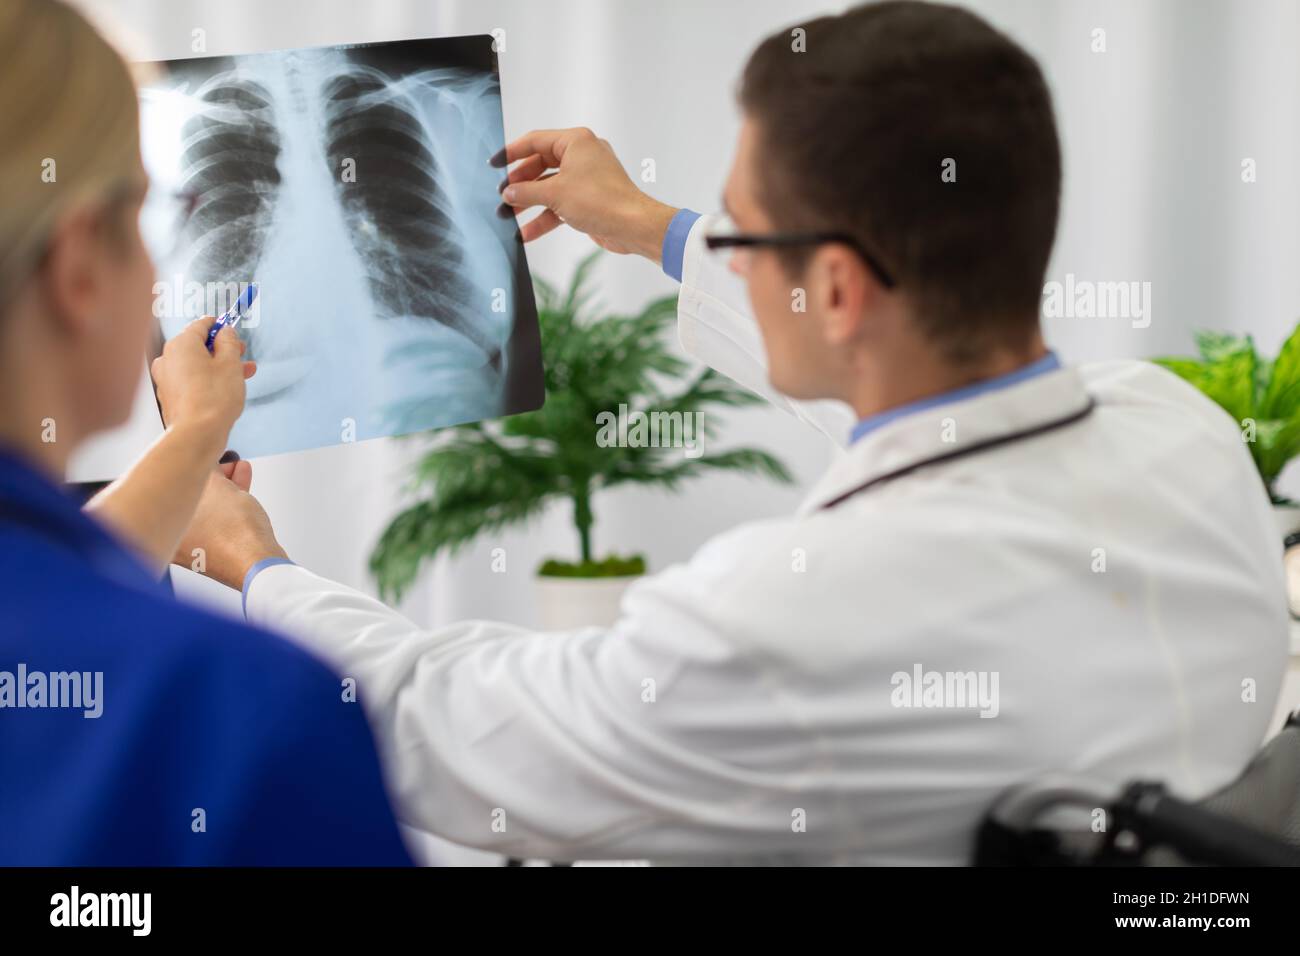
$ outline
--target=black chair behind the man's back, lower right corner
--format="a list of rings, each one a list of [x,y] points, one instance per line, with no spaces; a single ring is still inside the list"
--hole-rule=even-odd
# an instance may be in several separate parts
[[[1079,826],[1097,810],[1104,829]],[[1300,710],[1236,780],[1196,803],[1144,780],[1118,797],[1069,778],[1011,788],[984,817],[974,864],[1300,866]]]

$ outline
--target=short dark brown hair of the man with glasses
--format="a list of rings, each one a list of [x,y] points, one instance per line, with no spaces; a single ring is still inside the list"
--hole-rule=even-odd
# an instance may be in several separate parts
[[[767,38],[740,103],[779,229],[853,235],[954,360],[1037,328],[1061,147],[1011,39],[954,7],[868,4]],[[781,255],[797,274],[810,250]]]

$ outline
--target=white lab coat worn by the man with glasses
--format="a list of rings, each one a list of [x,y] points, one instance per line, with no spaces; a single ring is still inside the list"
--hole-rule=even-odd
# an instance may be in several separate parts
[[[708,221],[686,247],[682,345],[842,444],[842,408],[766,385],[744,286],[702,247]],[[1089,395],[1075,424],[819,510]],[[1191,797],[1230,780],[1284,670],[1279,558],[1234,423],[1173,375],[1112,362],[867,434],[797,514],[645,578],[608,631],[426,630],[295,566],[263,571],[247,613],[358,680],[399,814],[451,840],[558,860],[961,864],[994,796],[1044,774]],[[904,706],[926,701],[896,678],[918,669],[985,689],[996,674],[996,715],[957,706],[956,688]]]

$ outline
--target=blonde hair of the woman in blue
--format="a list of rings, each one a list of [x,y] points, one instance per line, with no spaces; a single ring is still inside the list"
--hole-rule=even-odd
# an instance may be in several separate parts
[[[0,3],[0,308],[56,220],[139,176],[131,73],[62,0]]]

